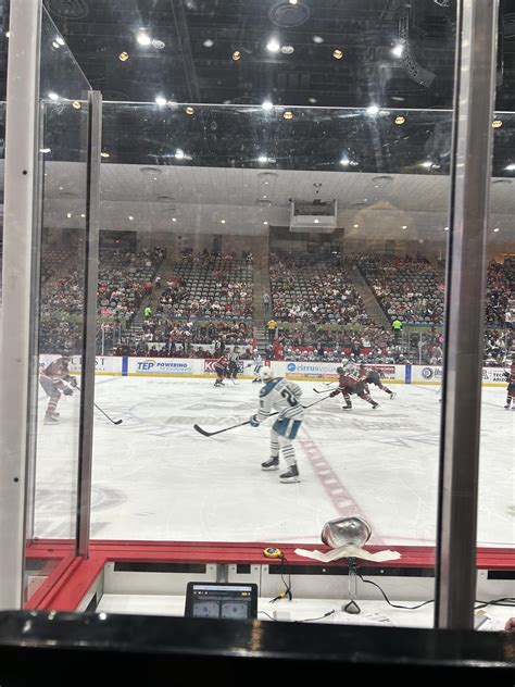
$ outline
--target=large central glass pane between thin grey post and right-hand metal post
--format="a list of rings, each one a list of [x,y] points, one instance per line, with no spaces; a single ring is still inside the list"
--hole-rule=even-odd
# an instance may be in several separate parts
[[[52,3],[104,101],[136,101],[103,110],[96,400],[123,423],[96,415],[91,535],[313,549],[359,515],[402,563],[425,547],[431,598],[455,3],[208,4],[127,29]],[[292,385],[280,430],[316,403],[300,483],[246,424],[259,357]]]

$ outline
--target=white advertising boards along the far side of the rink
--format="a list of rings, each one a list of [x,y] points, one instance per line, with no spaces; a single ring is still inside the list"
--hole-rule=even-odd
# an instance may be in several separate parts
[[[40,369],[46,367],[58,354],[41,354]],[[96,375],[118,377],[197,377],[214,378],[214,358],[129,358],[97,355]],[[336,382],[336,369],[341,363],[317,363],[303,361],[272,361],[269,365],[275,375],[299,382]],[[252,379],[253,361],[239,361],[239,377]],[[439,386],[442,380],[441,365],[369,365],[380,370],[385,382],[389,384],[426,384]],[[70,371],[80,370],[80,357],[74,355]],[[482,386],[500,387],[506,384],[503,367],[483,367]]]

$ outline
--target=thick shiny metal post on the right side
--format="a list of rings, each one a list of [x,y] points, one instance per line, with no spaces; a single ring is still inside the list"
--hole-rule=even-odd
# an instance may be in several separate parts
[[[472,628],[498,0],[461,0],[437,530],[437,627]]]

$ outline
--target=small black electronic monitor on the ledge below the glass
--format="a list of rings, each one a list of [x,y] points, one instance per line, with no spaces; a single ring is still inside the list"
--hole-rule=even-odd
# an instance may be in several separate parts
[[[258,617],[258,585],[248,583],[189,582],[186,617]]]

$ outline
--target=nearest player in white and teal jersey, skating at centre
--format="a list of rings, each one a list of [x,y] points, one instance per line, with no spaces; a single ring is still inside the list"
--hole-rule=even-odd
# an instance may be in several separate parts
[[[279,415],[272,425],[271,432],[271,458],[261,463],[261,470],[279,469],[279,449],[282,449],[282,458],[288,465],[287,472],[279,475],[284,483],[300,482],[296,453],[291,441],[297,437],[304,411],[300,403],[302,390],[294,382],[284,377],[274,377],[267,366],[261,369],[261,378],[264,383],[260,391],[260,408],[250,419],[252,427],[259,427],[272,409],[278,410]]]

